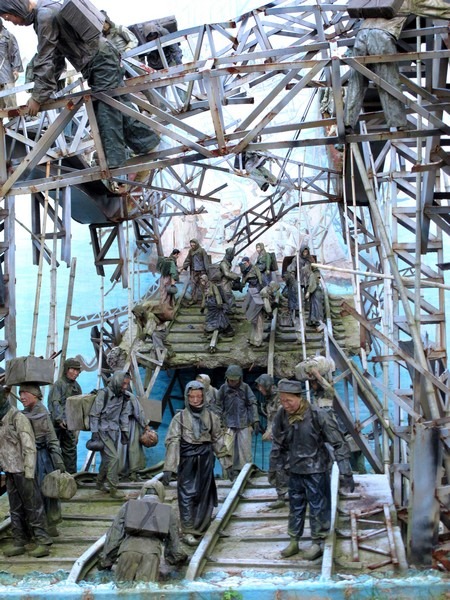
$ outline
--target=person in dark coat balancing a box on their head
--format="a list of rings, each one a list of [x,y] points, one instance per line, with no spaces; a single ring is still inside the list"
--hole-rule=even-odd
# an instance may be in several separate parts
[[[19,388],[19,395],[24,406],[22,412],[33,427],[37,450],[36,480],[41,488],[46,475],[56,469],[63,473],[66,469],[50,415],[42,404],[41,388],[35,384],[23,383]],[[47,515],[48,533],[57,537],[59,533],[56,525],[61,521],[61,502],[57,498],[42,498]]]

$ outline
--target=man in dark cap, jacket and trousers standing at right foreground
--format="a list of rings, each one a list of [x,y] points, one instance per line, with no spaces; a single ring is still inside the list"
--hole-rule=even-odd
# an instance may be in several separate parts
[[[309,506],[312,543],[303,552],[303,558],[315,560],[323,554],[331,519],[329,452],[325,442],[334,449],[343,489],[353,492],[350,450],[335,420],[325,411],[311,406],[302,395],[300,381],[281,379],[278,392],[282,408],[273,423],[269,469],[282,468],[288,456],[290,470],[288,533],[291,541],[281,556],[287,558],[299,552],[298,542],[303,535]]]

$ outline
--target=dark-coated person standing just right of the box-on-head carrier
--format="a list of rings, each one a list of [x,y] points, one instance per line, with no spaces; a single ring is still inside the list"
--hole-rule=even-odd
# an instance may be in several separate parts
[[[81,394],[80,384],[76,381],[81,371],[81,363],[76,358],[64,361],[63,375],[51,386],[47,405],[61,446],[61,453],[66,471],[77,472],[77,439],[78,433],[67,429],[66,401],[70,396]]]

